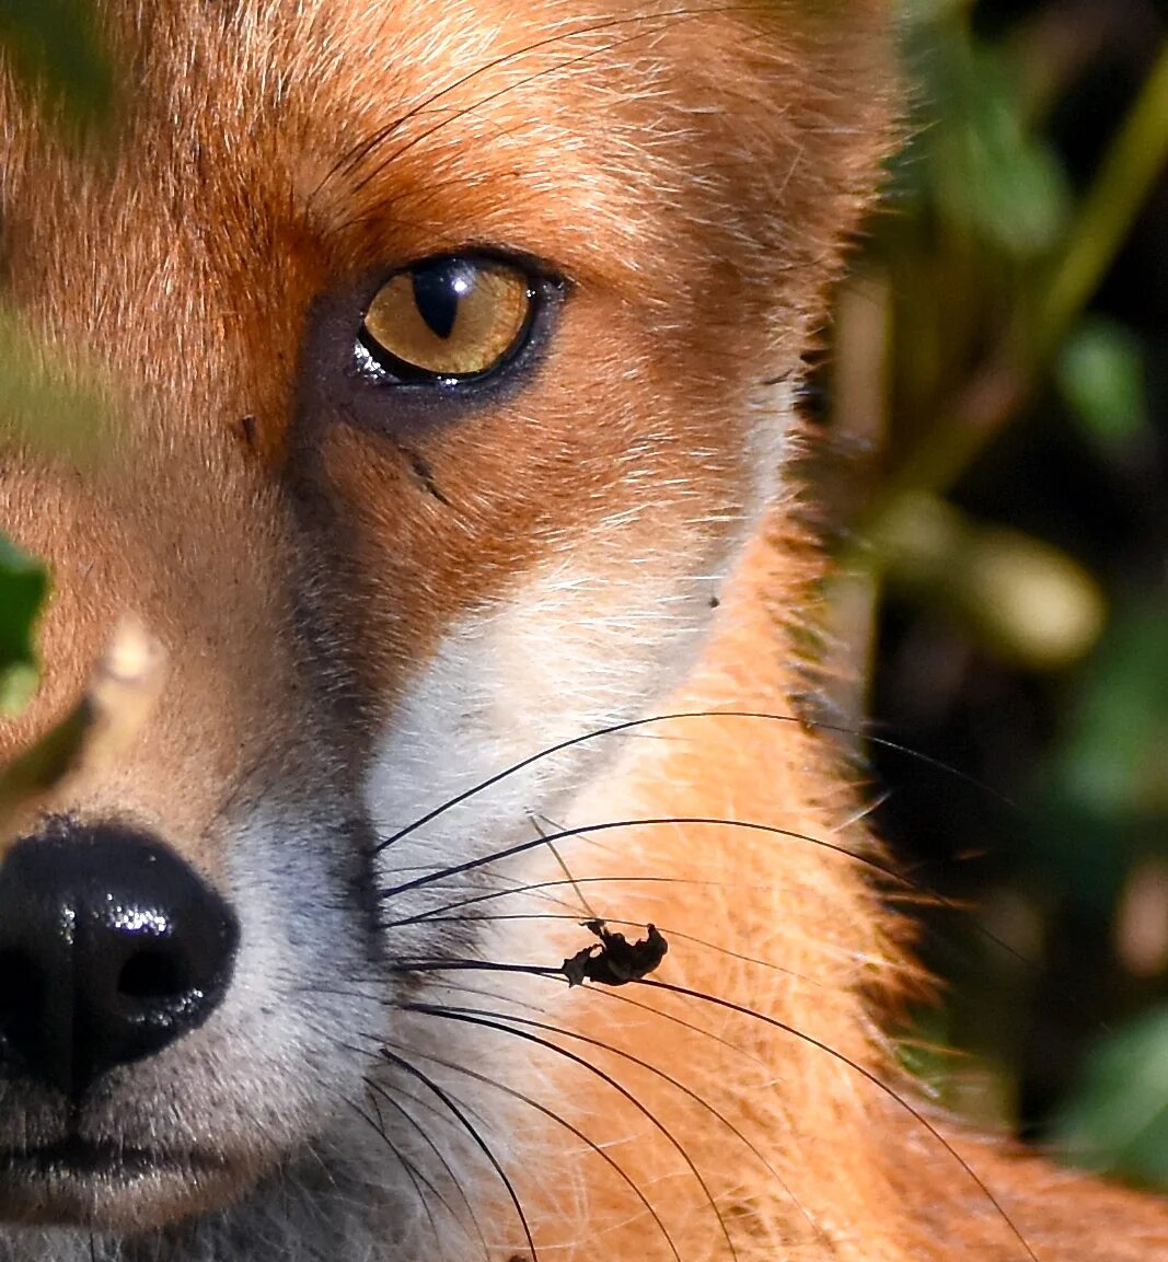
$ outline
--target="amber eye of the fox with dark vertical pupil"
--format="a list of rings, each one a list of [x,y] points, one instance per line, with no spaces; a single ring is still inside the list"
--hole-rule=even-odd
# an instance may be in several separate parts
[[[359,365],[394,381],[453,385],[505,365],[528,339],[533,278],[499,259],[444,256],[394,273],[374,294]]]

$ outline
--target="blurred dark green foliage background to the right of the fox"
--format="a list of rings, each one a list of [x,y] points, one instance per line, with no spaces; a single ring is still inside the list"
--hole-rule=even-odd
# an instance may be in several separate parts
[[[841,704],[985,789],[871,755],[880,827],[980,920],[929,915],[950,998],[910,1059],[955,1046],[922,1064],[958,1107],[1168,1186],[1168,13],[902,5],[910,140],[825,420],[862,454]]]

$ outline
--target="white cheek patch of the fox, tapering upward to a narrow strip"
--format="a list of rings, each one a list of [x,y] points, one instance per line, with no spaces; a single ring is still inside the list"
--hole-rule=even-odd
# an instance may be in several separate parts
[[[792,395],[780,382],[748,403],[745,507],[720,511],[701,487],[686,486],[681,493],[692,496],[693,510],[669,526],[667,546],[638,522],[607,522],[567,540],[510,592],[450,628],[386,714],[374,751],[365,803],[383,838],[543,750],[648,713],[684,676],[724,579],[774,500]],[[412,829],[384,852],[384,883],[530,838],[533,818],[554,817],[616,752],[614,740],[540,757]],[[413,891],[389,919],[433,905],[434,887]]]

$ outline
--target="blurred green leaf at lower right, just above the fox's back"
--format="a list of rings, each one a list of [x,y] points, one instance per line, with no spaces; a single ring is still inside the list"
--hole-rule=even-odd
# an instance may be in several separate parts
[[[1075,1165],[1168,1182],[1168,1006],[1095,1051],[1054,1140]]]

